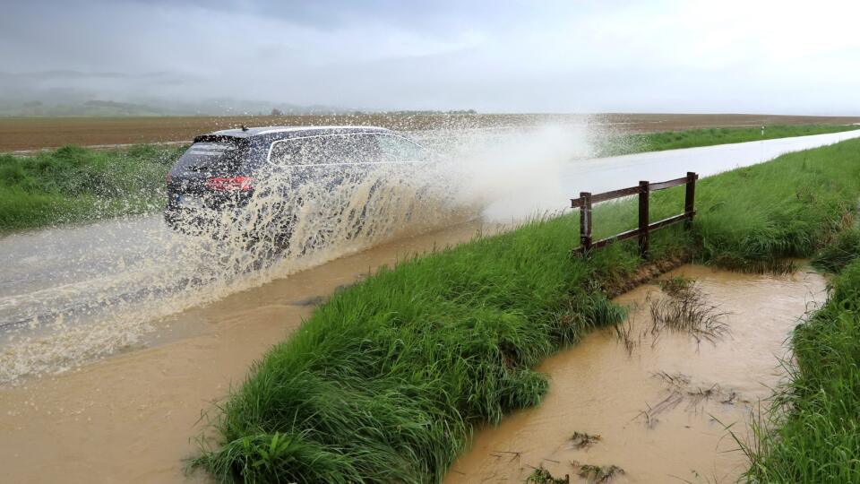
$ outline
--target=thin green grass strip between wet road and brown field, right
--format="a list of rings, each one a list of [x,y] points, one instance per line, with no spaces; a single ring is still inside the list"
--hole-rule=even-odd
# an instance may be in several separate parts
[[[856,125],[767,125],[761,127],[708,128],[647,134],[621,134],[598,143],[600,156],[676,150],[714,144],[744,143],[809,134],[839,133],[860,129]]]

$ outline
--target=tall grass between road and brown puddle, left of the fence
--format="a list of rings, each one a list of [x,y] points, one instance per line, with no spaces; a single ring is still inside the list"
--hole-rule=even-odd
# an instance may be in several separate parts
[[[197,463],[222,481],[441,480],[474,426],[539,402],[531,367],[623,317],[595,282],[637,257],[571,260],[573,239],[569,219],[539,221],[336,293],[255,365]]]

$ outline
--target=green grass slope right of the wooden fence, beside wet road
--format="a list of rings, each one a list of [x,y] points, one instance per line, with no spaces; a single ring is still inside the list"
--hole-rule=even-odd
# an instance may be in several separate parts
[[[700,260],[768,270],[808,257],[846,228],[860,195],[860,142],[851,140],[701,180]]]

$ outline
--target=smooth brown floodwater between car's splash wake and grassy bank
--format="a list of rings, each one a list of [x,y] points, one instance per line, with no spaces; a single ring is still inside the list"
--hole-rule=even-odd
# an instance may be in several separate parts
[[[0,388],[4,482],[161,484],[185,480],[201,411],[315,304],[380,264],[457,244],[494,227],[469,223],[348,255],[172,315],[149,348]],[[203,476],[191,480],[205,481]]]

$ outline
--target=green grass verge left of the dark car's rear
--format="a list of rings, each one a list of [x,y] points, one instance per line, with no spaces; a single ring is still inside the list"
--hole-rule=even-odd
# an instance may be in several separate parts
[[[66,146],[27,157],[0,154],[0,232],[156,210],[182,150]]]

